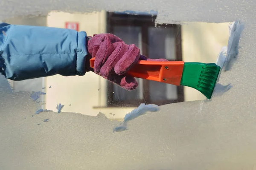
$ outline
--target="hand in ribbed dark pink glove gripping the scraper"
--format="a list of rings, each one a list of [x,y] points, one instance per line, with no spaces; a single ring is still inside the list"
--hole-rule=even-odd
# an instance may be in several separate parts
[[[140,55],[140,49],[127,45],[113,34],[94,34],[89,37],[87,49],[95,57],[94,72],[127,90],[134,90],[138,82],[134,77],[124,75],[140,60],[168,61],[167,59],[148,59]]]

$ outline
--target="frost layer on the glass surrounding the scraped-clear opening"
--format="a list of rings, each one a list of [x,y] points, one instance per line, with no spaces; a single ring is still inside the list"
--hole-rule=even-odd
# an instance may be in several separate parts
[[[1,0],[0,20],[51,10],[155,10],[159,23],[241,21],[239,54],[210,101],[160,106],[113,133],[102,115],[43,112],[0,78],[1,170],[254,170],[256,169],[256,1],[254,0]],[[85,98],[86,100],[86,98]],[[34,116],[32,116],[34,115]],[[43,122],[48,119],[48,122]]]

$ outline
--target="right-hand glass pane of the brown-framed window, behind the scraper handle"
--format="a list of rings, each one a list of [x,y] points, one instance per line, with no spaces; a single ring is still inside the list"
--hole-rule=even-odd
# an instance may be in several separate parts
[[[151,59],[165,58],[177,60],[175,45],[175,27],[148,29],[148,57]],[[149,82],[151,101],[177,100],[177,86],[162,82]]]

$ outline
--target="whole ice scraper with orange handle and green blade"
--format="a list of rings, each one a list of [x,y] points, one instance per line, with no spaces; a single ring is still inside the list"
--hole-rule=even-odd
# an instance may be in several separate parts
[[[90,59],[94,66],[95,57]],[[210,99],[221,67],[215,63],[139,60],[127,74],[147,80],[195,88]]]

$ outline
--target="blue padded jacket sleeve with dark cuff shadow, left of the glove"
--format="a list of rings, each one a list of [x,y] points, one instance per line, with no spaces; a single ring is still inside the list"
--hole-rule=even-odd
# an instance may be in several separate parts
[[[84,75],[86,32],[42,26],[0,24],[0,73],[24,80]]]

